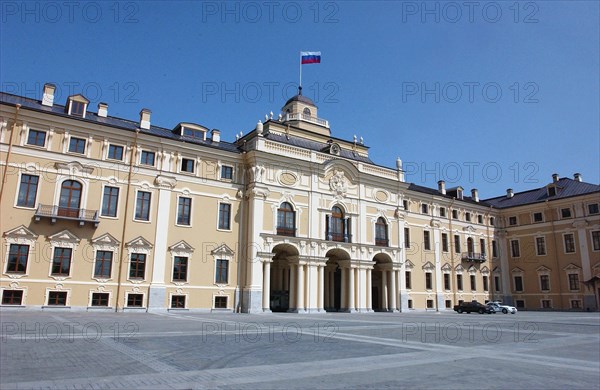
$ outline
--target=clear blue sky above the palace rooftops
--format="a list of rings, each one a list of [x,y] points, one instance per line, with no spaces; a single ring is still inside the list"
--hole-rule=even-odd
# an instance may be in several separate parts
[[[597,1],[10,2],[1,4],[1,89],[225,140],[247,133],[298,83],[332,135],[364,137],[407,181],[482,198],[600,182]],[[465,5],[470,4],[470,5]]]

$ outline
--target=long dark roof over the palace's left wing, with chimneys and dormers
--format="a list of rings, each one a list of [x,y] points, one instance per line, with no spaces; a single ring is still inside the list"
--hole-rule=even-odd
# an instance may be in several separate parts
[[[101,124],[105,126],[115,127],[119,129],[123,129],[126,131],[135,132],[136,130],[140,130],[140,133],[149,134],[156,137],[168,138],[181,142],[188,142],[197,145],[203,145],[211,148],[216,148],[232,153],[240,153],[238,147],[230,142],[212,142],[212,140],[200,140],[193,137],[182,136],[180,134],[174,133],[172,129],[167,129],[164,127],[151,125],[150,129],[140,129],[139,123],[127,119],[117,118],[113,116],[101,117],[98,116],[95,112],[86,111],[85,118],[76,117],[73,115],[68,115],[65,112],[65,106],[60,104],[54,104],[52,107],[44,106],[41,104],[39,100],[26,98],[23,96],[16,96],[6,92],[0,92],[0,103],[8,104],[8,105],[16,105],[20,104],[22,108],[27,108],[34,111],[45,112],[51,115],[62,116],[66,118],[70,118],[77,121],[87,122],[87,123],[95,123]]]

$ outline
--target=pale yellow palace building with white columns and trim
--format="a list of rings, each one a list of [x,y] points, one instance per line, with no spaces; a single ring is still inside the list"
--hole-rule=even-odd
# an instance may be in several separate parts
[[[298,94],[235,142],[0,93],[3,310],[598,310],[600,186],[407,183]]]

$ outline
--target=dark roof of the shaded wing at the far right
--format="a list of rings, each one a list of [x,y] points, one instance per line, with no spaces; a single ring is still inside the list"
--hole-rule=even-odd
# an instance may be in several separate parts
[[[546,200],[553,201],[558,199],[570,198],[573,196],[587,195],[598,193],[600,195],[600,185],[585,183],[577,180],[563,177],[558,180],[555,184],[557,187],[557,193],[554,196],[548,196],[547,186],[536,188],[529,191],[518,192],[513,195],[512,198],[506,197],[506,195],[498,196],[496,198],[490,198],[484,200],[491,204],[493,207],[498,209],[505,209],[509,207],[523,206],[526,204],[541,203]]]

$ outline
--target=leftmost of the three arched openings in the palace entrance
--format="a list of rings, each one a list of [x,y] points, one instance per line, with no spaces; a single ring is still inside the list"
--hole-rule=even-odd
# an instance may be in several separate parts
[[[291,267],[297,262],[298,249],[290,244],[279,244],[271,251],[273,262],[271,263],[271,290],[270,309],[274,312],[284,312],[295,308],[294,289],[295,281],[291,273]]]

